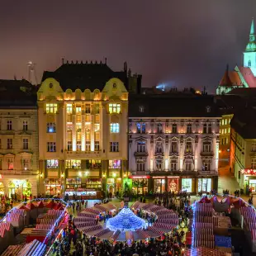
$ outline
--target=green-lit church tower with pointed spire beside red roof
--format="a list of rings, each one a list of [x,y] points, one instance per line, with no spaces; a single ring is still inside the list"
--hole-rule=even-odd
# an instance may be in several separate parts
[[[249,43],[244,51],[244,67],[250,68],[256,76],[256,36],[254,31],[254,18],[249,32]]]

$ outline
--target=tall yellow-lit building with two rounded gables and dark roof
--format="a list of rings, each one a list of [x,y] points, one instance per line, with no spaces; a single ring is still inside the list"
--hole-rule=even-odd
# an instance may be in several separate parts
[[[97,191],[121,191],[127,174],[126,77],[126,70],[113,72],[102,63],[66,63],[44,73],[37,92],[40,192],[94,197]]]

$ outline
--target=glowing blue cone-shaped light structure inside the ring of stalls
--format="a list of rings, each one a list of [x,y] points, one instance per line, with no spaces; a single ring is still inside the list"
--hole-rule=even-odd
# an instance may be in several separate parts
[[[145,226],[145,220],[135,216],[127,206],[117,216],[107,220],[107,228],[111,231],[135,231],[143,229]]]

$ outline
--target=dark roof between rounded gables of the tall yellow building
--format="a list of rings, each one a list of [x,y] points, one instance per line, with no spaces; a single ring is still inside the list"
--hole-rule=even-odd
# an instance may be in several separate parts
[[[125,85],[127,84],[125,71],[114,72],[107,64],[102,63],[62,64],[54,72],[45,71],[42,82],[46,78],[55,78],[64,91],[68,88],[73,91],[77,88],[82,91],[85,89],[102,91],[111,78],[119,78]]]

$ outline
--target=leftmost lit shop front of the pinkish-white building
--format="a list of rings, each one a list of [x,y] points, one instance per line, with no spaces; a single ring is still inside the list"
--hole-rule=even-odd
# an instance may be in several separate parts
[[[145,195],[148,192],[149,175],[130,175],[129,178],[131,178],[131,192],[134,196]]]

